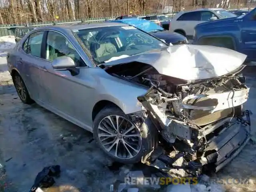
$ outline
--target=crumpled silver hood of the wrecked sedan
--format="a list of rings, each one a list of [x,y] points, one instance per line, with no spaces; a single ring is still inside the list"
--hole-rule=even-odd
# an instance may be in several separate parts
[[[160,74],[184,80],[202,80],[224,76],[238,69],[246,55],[215,46],[176,45],[108,62],[112,66],[142,62]]]

